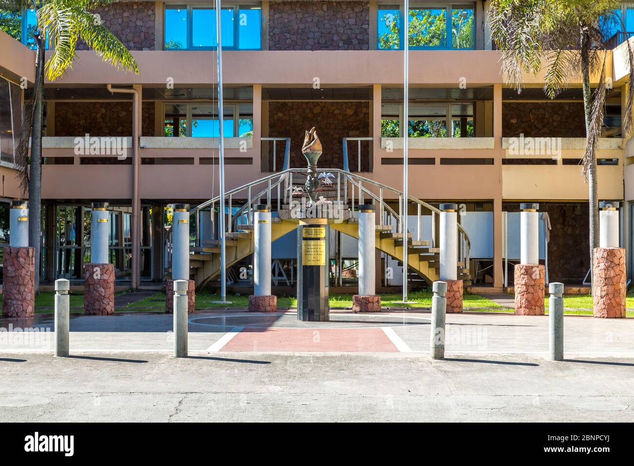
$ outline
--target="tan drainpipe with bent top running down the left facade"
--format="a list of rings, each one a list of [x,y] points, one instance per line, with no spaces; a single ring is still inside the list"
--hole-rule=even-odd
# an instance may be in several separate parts
[[[139,287],[141,278],[141,199],[139,198],[139,112],[141,102],[136,89],[126,87],[112,87],[106,84],[111,93],[125,93],[133,95],[132,105],[132,166],[133,166],[133,194],[132,194],[132,288]]]

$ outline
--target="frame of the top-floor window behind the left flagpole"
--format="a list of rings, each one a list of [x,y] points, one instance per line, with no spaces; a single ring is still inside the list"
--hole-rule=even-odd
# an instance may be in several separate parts
[[[258,24],[259,27],[259,36],[260,36],[260,47],[259,48],[240,48],[240,8],[243,7],[254,7],[257,6],[260,10],[260,21]],[[162,37],[162,41],[163,41],[163,50],[169,50],[172,51],[172,49],[165,49],[165,31],[167,29],[167,25],[166,25],[166,21],[165,21],[165,11],[167,10],[175,10],[178,8],[181,8],[181,10],[186,10],[187,11],[187,43],[185,44],[185,48],[181,49],[181,50],[216,50],[218,48],[218,46],[202,46],[202,47],[198,47],[198,46],[194,46],[192,44],[192,39],[193,39],[193,29],[192,29],[192,25],[193,25],[193,10],[213,10],[216,11],[215,5],[213,3],[164,3],[163,4],[163,37]],[[230,4],[221,4],[221,9],[222,10],[230,10],[231,8],[233,8],[233,46],[226,46],[223,45],[223,50],[262,50],[262,34],[263,34],[263,30],[264,28],[262,27],[262,4],[259,2],[254,2],[254,3],[249,3],[249,1],[246,2],[236,2],[236,3],[230,3]]]

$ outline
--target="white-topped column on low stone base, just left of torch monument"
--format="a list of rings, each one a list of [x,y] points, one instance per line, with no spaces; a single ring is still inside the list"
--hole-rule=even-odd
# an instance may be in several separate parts
[[[249,311],[274,313],[277,296],[271,294],[271,207],[254,205],[253,235],[256,249],[253,254],[254,294],[249,296]]]

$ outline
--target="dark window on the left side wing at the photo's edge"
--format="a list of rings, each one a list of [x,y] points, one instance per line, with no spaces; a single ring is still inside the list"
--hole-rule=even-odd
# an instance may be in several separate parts
[[[0,160],[15,163],[22,125],[22,89],[0,77]]]

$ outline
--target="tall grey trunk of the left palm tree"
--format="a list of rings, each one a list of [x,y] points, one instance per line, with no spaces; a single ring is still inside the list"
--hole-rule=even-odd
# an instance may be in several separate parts
[[[35,250],[36,293],[39,292],[40,244],[42,233],[42,119],[44,118],[44,38],[37,36],[36,82],[37,101],[31,129],[29,165],[29,245]]]

